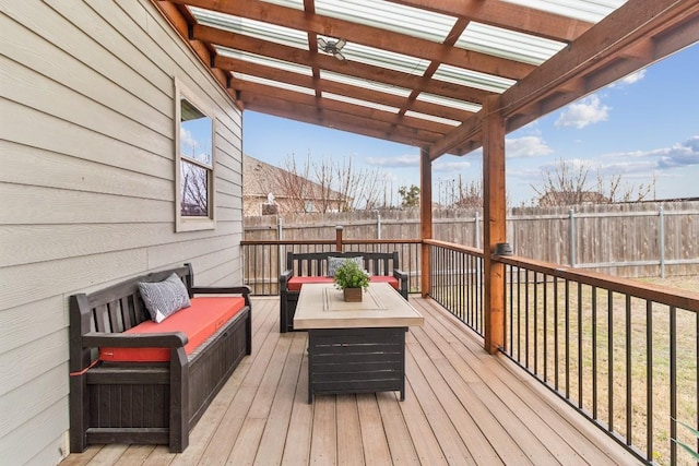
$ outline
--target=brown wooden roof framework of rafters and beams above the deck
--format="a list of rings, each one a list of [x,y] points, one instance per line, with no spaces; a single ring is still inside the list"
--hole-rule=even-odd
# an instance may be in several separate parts
[[[506,132],[510,132],[699,40],[699,4],[696,0],[628,0],[597,24],[500,0],[389,1],[451,16],[454,19],[452,29],[442,43],[435,43],[318,14],[315,0],[304,0],[303,10],[260,0],[154,0],[202,62],[210,67],[215,79],[238,100],[240,108],[419,145],[428,148],[431,159],[446,153],[465,154],[481,146],[482,122],[486,116],[483,110],[475,110],[495,94],[465,82],[435,77],[443,65],[514,80],[517,84],[505,91],[499,99]],[[188,7],[300,31],[307,37],[307,48],[199,24]],[[567,46],[541,65],[458,47],[458,37],[472,22]],[[428,60],[428,64],[420,75],[379,64],[339,61],[318,50],[318,35],[343,37],[350,43],[416,57],[423,63]],[[233,53],[222,52],[222,47]],[[308,73],[253,63],[236,56],[238,52],[303,65]],[[330,80],[328,72],[355,81]],[[308,92],[284,91],[285,85],[276,88],[256,84],[240,79],[241,75],[299,86]],[[363,84],[365,82],[367,85]],[[401,92],[388,92],[369,83],[392,86]],[[384,107],[376,109],[342,103],[328,98],[327,94]],[[446,97],[455,104],[445,106],[426,101],[422,98],[425,95]],[[411,112],[461,124],[454,128],[412,117]]]

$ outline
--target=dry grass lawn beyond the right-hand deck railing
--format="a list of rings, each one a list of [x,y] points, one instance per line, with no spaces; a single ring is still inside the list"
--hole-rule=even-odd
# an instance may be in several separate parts
[[[696,276],[641,282],[699,290]],[[673,404],[677,419],[697,426],[697,313],[677,309],[671,318],[667,306],[565,280],[544,283],[533,274],[512,292],[506,333],[512,357],[644,454],[651,442],[654,461],[670,464]],[[685,429],[677,437],[696,447]],[[685,463],[694,462],[680,451],[678,464]]]

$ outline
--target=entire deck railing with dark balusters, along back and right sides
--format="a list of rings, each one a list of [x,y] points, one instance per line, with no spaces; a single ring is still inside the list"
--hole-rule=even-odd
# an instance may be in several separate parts
[[[429,296],[484,335],[483,252],[428,240]],[[336,241],[244,241],[247,283],[275,295],[286,251],[334,251]],[[392,251],[419,292],[420,240],[343,241]],[[500,350],[639,459],[691,463],[699,443],[699,296],[570,267],[495,256],[505,264]],[[698,286],[699,288],[699,286]]]

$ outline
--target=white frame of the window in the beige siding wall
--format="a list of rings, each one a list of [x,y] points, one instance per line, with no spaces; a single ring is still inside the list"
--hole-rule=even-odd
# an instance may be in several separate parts
[[[182,155],[181,144],[181,120],[182,99],[188,100],[201,113],[211,120],[211,163],[198,160]],[[216,204],[215,204],[215,167],[216,167],[216,145],[214,142],[216,130],[216,119],[213,111],[196,93],[191,92],[182,82],[175,79],[175,231],[198,231],[215,229],[216,227]],[[206,216],[188,216],[182,214],[182,162],[192,164],[208,170],[206,182]]]

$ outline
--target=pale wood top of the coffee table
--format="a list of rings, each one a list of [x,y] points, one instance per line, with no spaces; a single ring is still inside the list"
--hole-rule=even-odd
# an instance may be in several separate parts
[[[391,285],[371,283],[362,302],[346,302],[333,284],[304,284],[294,328],[357,328],[423,325],[423,315]]]

